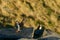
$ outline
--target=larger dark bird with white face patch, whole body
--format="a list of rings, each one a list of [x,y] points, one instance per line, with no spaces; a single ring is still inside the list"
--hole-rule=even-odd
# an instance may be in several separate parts
[[[34,31],[33,38],[34,39],[40,38],[43,35],[44,29],[45,29],[44,26],[39,25],[38,28]]]

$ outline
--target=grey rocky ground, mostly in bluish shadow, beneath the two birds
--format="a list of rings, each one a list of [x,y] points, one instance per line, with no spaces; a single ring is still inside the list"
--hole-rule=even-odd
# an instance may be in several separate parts
[[[33,29],[32,28],[23,28],[20,32],[16,32],[15,29],[0,29],[0,39],[15,39],[15,40],[60,40],[60,35],[55,32],[48,32],[45,30],[45,36],[42,36],[37,39],[32,38]],[[2,39],[2,40],[3,40]]]

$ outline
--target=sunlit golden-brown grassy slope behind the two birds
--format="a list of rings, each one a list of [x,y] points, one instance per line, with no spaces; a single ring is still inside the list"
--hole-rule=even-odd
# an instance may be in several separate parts
[[[37,28],[40,23],[46,29],[60,33],[59,0],[0,0],[0,24],[15,25],[15,20],[24,26]]]

